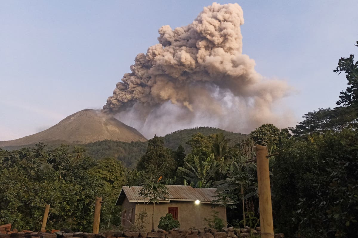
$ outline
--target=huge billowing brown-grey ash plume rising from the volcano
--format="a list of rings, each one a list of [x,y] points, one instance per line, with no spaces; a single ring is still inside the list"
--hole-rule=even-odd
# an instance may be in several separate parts
[[[192,24],[160,27],[159,44],[137,55],[103,111],[147,137],[193,126],[248,132],[277,124],[272,103],[289,87],[263,79],[242,54],[243,23],[238,4],[213,3]]]

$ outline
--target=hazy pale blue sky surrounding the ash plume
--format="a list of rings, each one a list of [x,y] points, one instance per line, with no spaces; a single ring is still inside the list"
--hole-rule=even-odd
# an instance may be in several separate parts
[[[347,82],[333,70],[340,57],[357,53],[358,1],[237,2],[245,18],[243,53],[260,74],[295,88],[285,107],[297,122],[334,107]],[[187,25],[211,4],[0,1],[0,140],[102,108],[135,56],[158,42],[160,26]]]

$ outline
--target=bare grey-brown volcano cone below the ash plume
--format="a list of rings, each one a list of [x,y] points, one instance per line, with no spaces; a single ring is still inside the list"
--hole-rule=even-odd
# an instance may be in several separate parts
[[[38,142],[78,143],[95,141],[147,141],[135,128],[111,115],[93,109],[76,112],[47,130],[12,141],[0,141],[0,147],[31,145]]]

